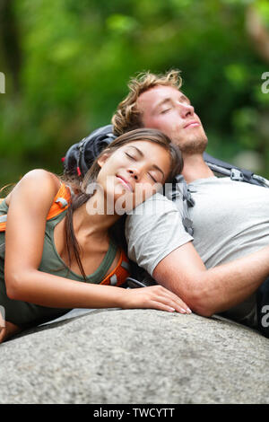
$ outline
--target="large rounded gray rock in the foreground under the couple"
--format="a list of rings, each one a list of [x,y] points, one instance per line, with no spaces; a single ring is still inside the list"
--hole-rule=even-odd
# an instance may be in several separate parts
[[[94,310],[0,346],[0,403],[269,403],[269,342],[221,317]]]

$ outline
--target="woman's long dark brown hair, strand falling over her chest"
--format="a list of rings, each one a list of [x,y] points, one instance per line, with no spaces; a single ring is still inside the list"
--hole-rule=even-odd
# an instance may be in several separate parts
[[[63,179],[63,181],[69,184],[69,186],[71,186],[71,188],[74,190],[74,195],[71,199],[70,206],[67,208],[67,214],[65,218],[65,247],[68,263],[69,266],[71,266],[72,259],[75,259],[84,279],[86,279],[86,274],[82,267],[82,261],[80,258],[82,251],[74,233],[73,213],[76,209],[82,207],[82,205],[85,204],[89,198],[91,198],[91,194],[87,193],[87,187],[97,180],[100,171],[100,165],[98,163],[100,157],[103,154],[113,154],[113,152],[121,146],[135,141],[149,141],[154,144],[161,145],[169,153],[170,172],[167,180],[165,180],[166,182],[171,182],[183,169],[182,155],[178,149],[178,146],[173,145],[169,137],[164,135],[160,130],[143,127],[126,132],[125,134],[118,136],[117,139],[112,141],[111,144],[109,144],[108,147],[106,147],[101,152],[100,156],[91,165],[90,170],[87,171],[82,182],[77,179]],[[113,238],[114,242],[116,242],[126,251],[126,239],[124,232],[125,220],[126,215],[123,215],[120,220],[117,221],[117,224],[114,224],[113,227],[111,227],[109,230],[109,235]]]

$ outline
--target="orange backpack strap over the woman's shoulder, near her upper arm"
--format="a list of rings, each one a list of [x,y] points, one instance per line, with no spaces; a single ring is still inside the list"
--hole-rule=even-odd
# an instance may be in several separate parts
[[[65,211],[70,205],[70,199],[70,189],[68,186],[65,186],[64,183],[61,183],[60,189],[57,191],[56,196],[53,199],[53,204],[48,211],[47,220],[50,220]],[[0,199],[0,201],[2,200],[4,199]],[[5,232],[6,218],[6,214],[0,215],[0,232]]]

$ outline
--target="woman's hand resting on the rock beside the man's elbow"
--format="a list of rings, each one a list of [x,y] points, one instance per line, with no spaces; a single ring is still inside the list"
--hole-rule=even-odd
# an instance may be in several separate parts
[[[124,309],[148,308],[160,311],[191,313],[187,304],[177,295],[162,286],[150,286],[126,289],[124,295]]]

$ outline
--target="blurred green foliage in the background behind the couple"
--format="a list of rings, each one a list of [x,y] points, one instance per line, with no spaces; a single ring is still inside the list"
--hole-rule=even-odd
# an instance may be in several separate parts
[[[109,123],[131,76],[169,68],[182,70],[208,152],[232,161],[253,150],[268,177],[269,64],[247,36],[251,4],[269,28],[264,0],[13,0],[22,68],[15,92],[0,40],[1,185],[36,167],[60,173],[67,148]]]

